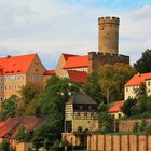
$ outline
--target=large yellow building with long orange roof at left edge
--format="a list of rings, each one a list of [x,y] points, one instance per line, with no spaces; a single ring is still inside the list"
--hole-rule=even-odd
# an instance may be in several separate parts
[[[43,88],[44,71],[37,54],[0,58],[0,100],[19,95],[22,86],[27,83]]]

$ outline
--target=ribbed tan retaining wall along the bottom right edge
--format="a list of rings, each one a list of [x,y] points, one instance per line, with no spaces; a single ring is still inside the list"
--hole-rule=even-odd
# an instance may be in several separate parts
[[[151,151],[151,135],[92,135],[87,150]]]

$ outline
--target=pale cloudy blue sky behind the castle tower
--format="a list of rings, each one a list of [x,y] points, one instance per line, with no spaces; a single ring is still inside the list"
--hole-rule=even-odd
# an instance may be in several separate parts
[[[98,17],[120,17],[119,52],[136,63],[151,49],[151,0],[0,0],[0,57],[38,53],[53,69],[61,53],[98,51]]]

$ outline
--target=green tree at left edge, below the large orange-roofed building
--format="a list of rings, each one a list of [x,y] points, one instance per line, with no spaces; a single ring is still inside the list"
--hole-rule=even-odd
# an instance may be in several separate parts
[[[2,102],[2,112],[1,112],[1,120],[5,121],[9,116],[16,115],[16,104],[17,104],[17,96],[12,95],[10,98],[5,99]]]

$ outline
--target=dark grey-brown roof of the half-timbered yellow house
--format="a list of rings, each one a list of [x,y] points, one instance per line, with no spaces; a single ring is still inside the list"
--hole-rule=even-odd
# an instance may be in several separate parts
[[[96,102],[86,94],[74,94],[66,104],[96,105]]]

